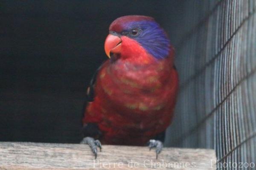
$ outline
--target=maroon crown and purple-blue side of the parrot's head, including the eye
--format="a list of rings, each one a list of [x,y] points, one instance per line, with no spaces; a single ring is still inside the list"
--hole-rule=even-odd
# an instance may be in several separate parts
[[[169,55],[169,38],[151,17],[140,15],[120,17],[111,23],[110,32],[137,40],[154,58],[162,59]]]

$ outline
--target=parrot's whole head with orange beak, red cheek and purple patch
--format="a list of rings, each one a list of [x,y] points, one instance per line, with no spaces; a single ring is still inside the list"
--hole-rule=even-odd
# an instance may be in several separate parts
[[[113,61],[151,63],[167,58],[172,50],[160,25],[152,17],[141,15],[114,20],[105,40],[105,52]]]

